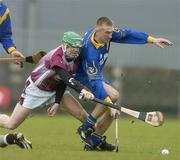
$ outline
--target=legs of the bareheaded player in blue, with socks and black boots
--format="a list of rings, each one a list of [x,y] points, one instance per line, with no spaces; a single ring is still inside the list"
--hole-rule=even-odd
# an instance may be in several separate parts
[[[107,85],[105,83],[104,89],[107,91],[112,103],[115,103],[119,98],[119,93],[110,85]],[[115,145],[107,143],[106,137],[103,137],[101,135],[103,135],[109,128],[117,112],[117,110],[112,111],[112,109],[109,109],[106,106],[102,106],[99,104],[96,105],[92,114],[89,115],[83,125],[78,128],[78,133],[80,134],[82,140],[86,143],[84,150],[113,151],[115,149]],[[101,115],[103,115],[102,119],[97,123],[94,132],[93,126],[96,123],[96,119]]]

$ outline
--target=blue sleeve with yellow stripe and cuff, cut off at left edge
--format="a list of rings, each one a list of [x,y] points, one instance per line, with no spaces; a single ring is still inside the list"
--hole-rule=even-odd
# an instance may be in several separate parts
[[[10,10],[3,2],[0,2],[0,43],[8,53],[15,49],[15,44],[11,37]]]

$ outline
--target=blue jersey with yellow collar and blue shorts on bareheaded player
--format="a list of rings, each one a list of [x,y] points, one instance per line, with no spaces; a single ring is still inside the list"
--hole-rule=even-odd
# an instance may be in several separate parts
[[[88,87],[92,93],[100,99],[105,99],[106,93],[103,82],[105,82],[102,69],[109,55],[110,43],[145,44],[148,34],[130,29],[114,29],[112,38],[107,44],[99,44],[94,40],[95,30],[91,29],[83,37],[84,45],[80,52],[81,67],[76,79]]]

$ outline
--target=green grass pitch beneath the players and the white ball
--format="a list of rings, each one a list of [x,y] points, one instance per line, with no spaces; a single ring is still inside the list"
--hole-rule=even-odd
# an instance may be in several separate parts
[[[80,125],[69,116],[35,115],[27,119],[17,131],[32,140],[32,150],[16,146],[0,149],[0,160],[180,160],[180,120],[166,119],[159,128],[136,120],[120,119],[119,152],[84,152],[76,129]],[[114,142],[114,124],[106,133]],[[1,133],[6,133],[1,129]],[[167,148],[168,156],[161,150]]]

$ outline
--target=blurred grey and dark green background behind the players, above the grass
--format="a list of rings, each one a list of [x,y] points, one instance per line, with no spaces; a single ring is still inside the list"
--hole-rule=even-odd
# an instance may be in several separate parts
[[[11,10],[13,38],[24,55],[49,51],[65,31],[84,34],[100,16],[119,28],[167,38],[174,46],[112,44],[105,77],[132,109],[160,110],[180,117],[179,0],[4,0]],[[2,46],[1,57],[8,55]],[[12,109],[33,65],[0,64],[0,108]],[[85,107],[88,107],[88,103]]]

